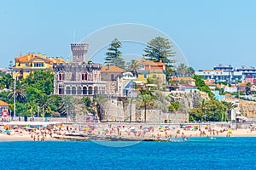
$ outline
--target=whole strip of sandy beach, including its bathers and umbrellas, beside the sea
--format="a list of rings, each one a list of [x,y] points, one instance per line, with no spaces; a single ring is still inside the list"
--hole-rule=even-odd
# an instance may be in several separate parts
[[[2,127],[3,129],[3,127]],[[109,137],[150,140],[150,139],[174,139],[174,138],[194,138],[194,137],[256,137],[255,128],[237,128],[228,129],[226,127],[210,127],[207,129],[193,128],[173,128],[168,126],[139,125],[131,127],[131,124],[122,124],[116,126],[113,124],[86,125],[83,128],[72,126],[55,126],[49,128],[38,128],[27,130],[23,127],[10,129],[9,134],[6,131],[0,133],[0,142],[6,141],[49,141],[56,139],[74,139],[75,137],[84,137],[87,140],[109,139]],[[68,137],[68,138],[67,138]],[[86,139],[85,139],[86,138]],[[78,139],[79,140],[79,139]]]

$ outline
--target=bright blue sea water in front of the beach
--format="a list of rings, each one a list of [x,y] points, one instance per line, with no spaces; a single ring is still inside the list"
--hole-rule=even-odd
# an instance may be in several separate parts
[[[0,142],[1,169],[256,169],[256,138]]]

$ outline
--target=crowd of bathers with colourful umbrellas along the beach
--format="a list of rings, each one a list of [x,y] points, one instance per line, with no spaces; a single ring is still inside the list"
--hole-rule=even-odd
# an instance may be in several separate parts
[[[1,134],[7,136],[27,137],[33,141],[44,141],[45,139],[54,139],[56,136],[67,136],[72,134],[83,134],[90,138],[91,135],[111,137],[116,136],[124,139],[183,139],[187,140],[192,137],[212,137],[226,136],[230,137],[234,132],[240,129],[232,129],[229,127],[172,127],[167,125],[146,125],[146,124],[122,124],[122,123],[105,123],[105,124],[84,124],[84,125],[50,125],[42,126],[2,126],[0,127]],[[242,129],[241,129],[242,130]],[[244,131],[241,131],[245,133]],[[254,134],[255,128],[248,127],[246,135]],[[3,136],[3,135],[2,135]],[[255,133],[256,136],[256,133]],[[189,137],[189,138],[188,138]]]

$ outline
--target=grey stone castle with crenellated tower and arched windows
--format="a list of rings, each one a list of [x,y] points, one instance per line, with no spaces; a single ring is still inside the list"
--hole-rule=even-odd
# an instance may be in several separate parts
[[[102,64],[87,63],[89,45],[72,43],[73,62],[55,63],[53,70],[54,94],[93,96],[105,94],[106,82],[102,81]]]

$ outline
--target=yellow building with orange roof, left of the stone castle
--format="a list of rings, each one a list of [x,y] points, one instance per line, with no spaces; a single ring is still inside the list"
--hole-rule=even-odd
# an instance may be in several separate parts
[[[18,80],[26,78],[30,73],[37,70],[52,70],[54,63],[65,63],[62,58],[47,58],[46,55],[38,53],[22,55],[15,58],[15,65],[13,67],[13,77]]]

